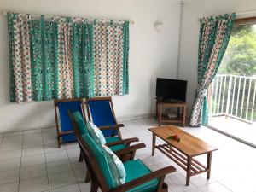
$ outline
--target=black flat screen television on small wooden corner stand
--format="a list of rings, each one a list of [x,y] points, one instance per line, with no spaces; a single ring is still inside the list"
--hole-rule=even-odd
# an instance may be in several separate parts
[[[170,102],[186,102],[187,84],[185,80],[156,79],[157,99]]]

